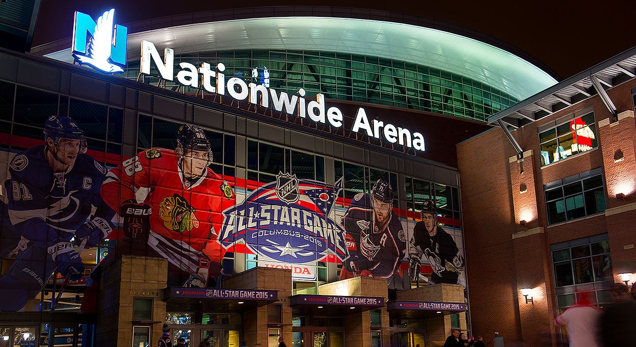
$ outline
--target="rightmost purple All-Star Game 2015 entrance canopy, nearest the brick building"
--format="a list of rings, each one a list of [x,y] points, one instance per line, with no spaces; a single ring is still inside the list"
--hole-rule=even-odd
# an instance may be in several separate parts
[[[392,318],[427,319],[466,311],[464,302],[390,301],[387,310]]]

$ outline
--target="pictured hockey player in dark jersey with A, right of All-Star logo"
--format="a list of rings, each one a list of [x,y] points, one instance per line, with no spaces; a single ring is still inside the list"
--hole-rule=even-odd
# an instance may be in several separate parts
[[[352,276],[385,278],[403,286],[399,270],[406,253],[406,232],[393,207],[393,188],[377,180],[371,194],[354,196],[342,225],[347,232],[349,257],[343,260],[340,280]]]

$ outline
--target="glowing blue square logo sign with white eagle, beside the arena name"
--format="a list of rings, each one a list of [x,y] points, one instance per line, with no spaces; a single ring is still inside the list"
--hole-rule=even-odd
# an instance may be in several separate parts
[[[93,21],[89,15],[75,12],[73,57],[105,73],[122,73],[126,66],[128,28],[114,24],[115,10],[104,12]]]

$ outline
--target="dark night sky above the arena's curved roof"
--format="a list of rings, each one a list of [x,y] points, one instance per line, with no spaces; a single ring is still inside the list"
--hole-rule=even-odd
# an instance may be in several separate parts
[[[459,25],[505,41],[568,78],[636,45],[634,3],[611,1],[161,1],[42,0],[33,46],[71,36],[74,11],[96,17],[116,8],[116,22],[272,5],[322,5],[367,8],[417,15]]]

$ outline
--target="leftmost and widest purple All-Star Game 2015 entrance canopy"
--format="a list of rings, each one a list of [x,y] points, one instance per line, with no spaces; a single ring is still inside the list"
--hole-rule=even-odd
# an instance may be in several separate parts
[[[171,310],[235,312],[278,301],[277,290],[167,287],[163,301]]]

